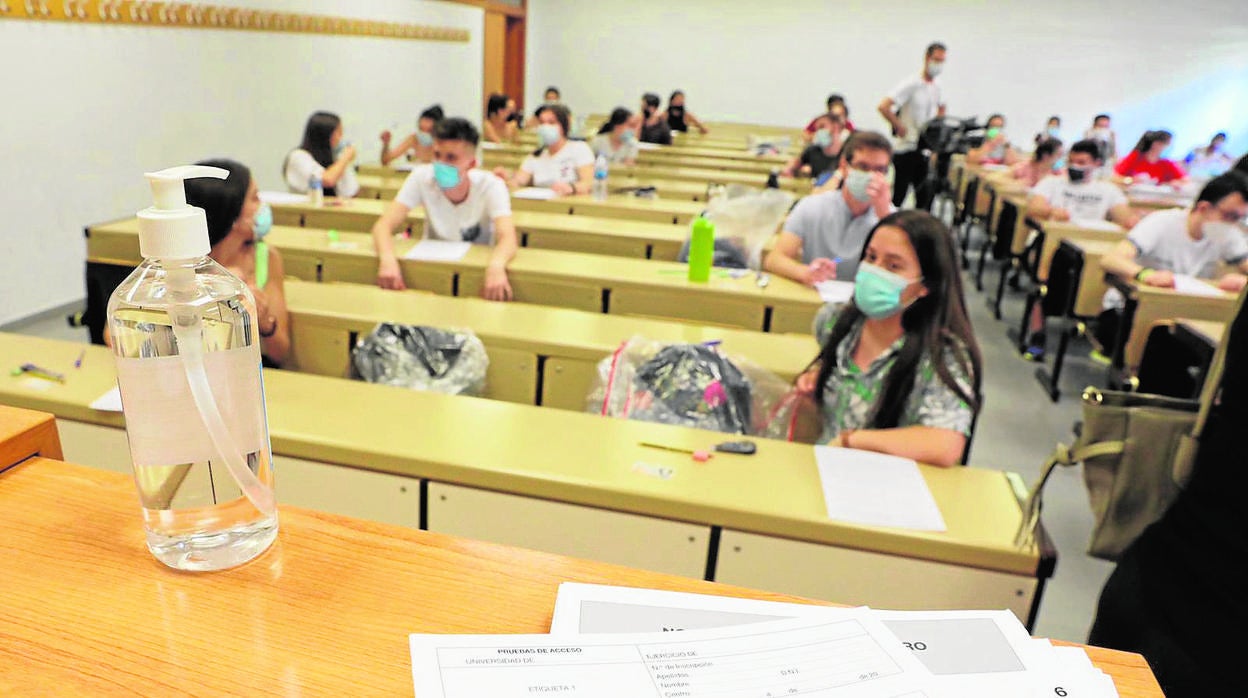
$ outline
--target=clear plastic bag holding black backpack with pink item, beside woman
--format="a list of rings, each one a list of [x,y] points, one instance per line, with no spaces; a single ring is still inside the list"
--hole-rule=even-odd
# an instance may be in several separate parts
[[[789,438],[790,433],[805,433],[800,421],[809,416],[789,397],[790,392],[789,383],[775,373],[725,356],[716,346],[633,337],[598,365],[587,411],[724,433]]]

